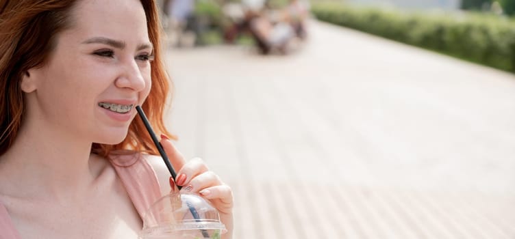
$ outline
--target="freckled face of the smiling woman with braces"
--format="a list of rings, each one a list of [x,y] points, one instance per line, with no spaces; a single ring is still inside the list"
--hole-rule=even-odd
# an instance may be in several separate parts
[[[95,143],[119,143],[151,87],[153,48],[138,0],[79,0],[36,82],[39,119]],[[30,109],[30,107],[29,107]]]

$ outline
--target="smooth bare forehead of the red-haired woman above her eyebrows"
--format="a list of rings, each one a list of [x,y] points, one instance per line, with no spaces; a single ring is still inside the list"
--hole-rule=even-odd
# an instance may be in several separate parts
[[[79,0],[71,10],[73,34],[148,42],[140,0]]]

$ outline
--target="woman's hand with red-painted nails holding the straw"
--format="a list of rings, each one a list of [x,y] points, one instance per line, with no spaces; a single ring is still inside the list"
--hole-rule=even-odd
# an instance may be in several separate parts
[[[182,154],[177,151],[173,143],[164,135],[161,135],[161,145],[174,169],[177,171],[177,184],[183,186],[181,191],[199,193],[205,199],[211,201],[213,206],[220,212],[220,219],[227,229],[222,235],[223,239],[232,238],[233,231],[233,196],[229,186],[208,169],[203,160],[193,158],[186,163]],[[170,180],[172,191],[175,191],[175,184]]]

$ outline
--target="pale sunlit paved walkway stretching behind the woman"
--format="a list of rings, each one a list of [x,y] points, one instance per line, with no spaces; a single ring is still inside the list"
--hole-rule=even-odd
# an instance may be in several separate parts
[[[234,188],[235,238],[515,238],[515,76],[310,32],[286,57],[168,57],[169,126]]]

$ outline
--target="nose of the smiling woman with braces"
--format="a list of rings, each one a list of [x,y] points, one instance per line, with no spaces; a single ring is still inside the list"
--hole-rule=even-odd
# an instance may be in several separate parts
[[[131,60],[125,62],[121,67],[121,73],[116,79],[115,85],[119,88],[127,88],[135,92],[140,92],[145,89],[147,83],[136,61]]]

